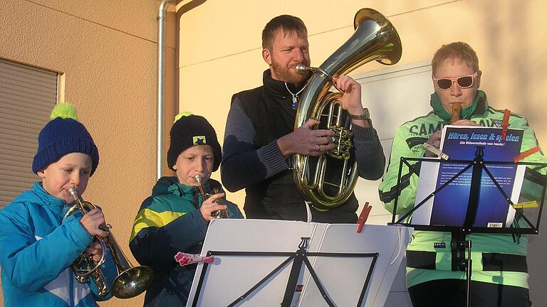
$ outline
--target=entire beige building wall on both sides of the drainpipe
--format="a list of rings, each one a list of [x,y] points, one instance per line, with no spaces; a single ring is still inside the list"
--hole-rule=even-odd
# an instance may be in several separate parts
[[[127,255],[125,242],[133,217],[155,183],[159,3],[0,1],[0,57],[64,74],[61,94],[76,104],[80,120],[100,149],[100,167],[85,197],[103,207]],[[312,64],[320,65],[351,36],[353,16],[363,5],[385,14],[400,33],[403,55],[398,65],[429,60],[442,43],[470,43],[479,54],[484,71],[481,87],[491,104],[528,117],[546,146],[542,90],[547,86],[543,57],[547,3],[541,0],[191,1],[177,14],[177,60],[172,32],[176,24],[174,18],[167,19],[167,37],[172,39],[167,48],[166,130],[172,122],[172,102],[179,99],[179,109],[207,117],[223,139],[231,95],[261,85],[266,64],[261,59],[260,33],[273,16],[293,14],[303,19]],[[382,68],[370,63],[354,74]],[[175,91],[178,97],[172,97]],[[409,107],[415,103],[424,102],[409,102]],[[168,140],[167,131],[164,135]],[[243,193],[229,197],[243,203]],[[545,266],[533,269],[535,274],[547,274]],[[547,299],[545,293],[533,294],[542,297],[539,301]],[[140,306],[141,302],[142,296],[113,299],[101,306]]]

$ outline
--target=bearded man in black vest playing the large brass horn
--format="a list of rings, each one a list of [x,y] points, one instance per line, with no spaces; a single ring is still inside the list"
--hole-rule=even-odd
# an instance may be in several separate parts
[[[310,74],[300,74],[296,65],[310,65],[308,31],[300,18],[281,15],[262,32],[262,57],[269,65],[263,85],[232,97],[224,134],[222,182],[227,190],[246,189],[247,218],[301,220],[307,222],[355,223],[358,200],[352,193],[343,205],[330,210],[306,203],[293,179],[291,156],[321,156],[334,145],[333,131],[312,129],[313,119],[294,129],[298,95]],[[379,179],[385,156],[361,103],[361,86],[341,75],[334,81],[343,91],[340,99],[353,124],[353,145],[359,176]]]

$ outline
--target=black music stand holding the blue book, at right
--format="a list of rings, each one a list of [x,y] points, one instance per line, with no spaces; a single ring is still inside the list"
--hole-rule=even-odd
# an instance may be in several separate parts
[[[484,171],[491,181],[496,185],[496,188],[499,190],[499,193],[504,196],[504,199],[506,200],[506,205],[509,208],[509,205],[515,206],[515,204],[511,201],[511,198],[507,195],[507,193],[501,188],[501,185],[498,181],[496,181],[496,178],[492,175],[491,171],[489,171],[488,165],[522,165],[522,166],[532,166],[533,171],[538,171],[543,168],[547,168],[547,163],[531,163],[531,162],[506,162],[506,161],[484,161],[484,147],[483,146],[476,146],[476,153],[475,158],[472,161],[468,160],[448,160],[443,161],[439,158],[401,158],[400,166],[399,166],[399,174],[397,176],[397,198],[395,198],[394,208],[393,208],[393,214],[392,214],[392,222],[388,223],[388,225],[405,225],[407,227],[414,227],[415,230],[430,230],[430,231],[441,231],[441,232],[451,232],[452,233],[452,242],[451,242],[451,249],[456,254],[456,259],[452,261],[452,269],[457,271],[465,271],[467,276],[467,293],[466,293],[466,306],[470,306],[470,289],[471,289],[471,274],[472,274],[472,259],[471,259],[471,248],[472,248],[472,242],[468,239],[466,239],[467,235],[470,235],[471,233],[499,233],[499,234],[509,234],[509,235],[537,235],[539,233],[539,225],[541,221],[541,212],[543,210],[543,203],[546,198],[546,189],[547,189],[547,176],[537,176],[533,175],[533,173],[528,171],[528,168],[526,168],[527,175],[525,175],[525,183],[528,181],[528,183],[532,183],[535,185],[538,185],[538,187],[541,188],[541,195],[539,196],[539,199],[536,199],[536,201],[539,203],[538,210],[536,210],[536,224],[533,225],[531,222],[531,218],[528,218],[525,215],[525,210],[518,209],[516,210],[515,214],[515,220],[522,219],[526,223],[526,227],[513,227],[513,225],[517,225],[516,223],[513,223],[511,227],[475,227],[475,220],[476,220],[476,214],[477,209],[479,205],[479,198],[480,198],[480,191],[481,191],[481,182],[482,182],[482,172]],[[417,161],[415,164],[410,164],[408,161]],[[398,195],[400,195],[400,185],[402,181],[402,166],[406,165],[409,168],[410,176],[420,176],[420,167],[422,162],[433,162],[433,163],[459,163],[464,165],[464,168],[456,173],[452,178],[449,178],[445,183],[439,186],[436,190],[434,190],[432,193],[427,195],[424,200],[420,201],[420,203],[417,203],[412,210],[407,212],[405,215],[402,215],[398,219],[396,218],[395,212],[397,212],[397,201],[398,201]],[[439,193],[439,191],[446,188],[450,183],[452,183],[454,180],[459,178],[459,176],[462,176],[466,171],[469,169],[472,169],[472,178],[470,183],[470,190],[469,190],[469,200],[467,202],[467,212],[465,215],[465,220],[462,223],[462,225],[459,226],[446,226],[446,225],[417,225],[412,224],[412,214],[415,212],[418,208],[420,208],[424,203],[426,203],[430,198],[432,198],[434,195]],[[410,180],[410,179],[408,179]],[[521,192],[522,195],[522,192]],[[467,250],[467,257],[466,257],[466,250]]]

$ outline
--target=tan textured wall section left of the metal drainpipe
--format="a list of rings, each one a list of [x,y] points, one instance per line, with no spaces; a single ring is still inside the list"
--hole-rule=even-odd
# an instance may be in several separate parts
[[[0,1],[0,57],[63,73],[61,96],[76,105],[100,152],[98,170],[84,197],[103,208],[132,262],[127,246],[132,221],[156,177],[159,4],[157,0]],[[168,109],[175,101],[175,27],[176,16],[171,13]],[[171,119],[173,111],[167,113]],[[143,297],[115,298],[101,306],[140,306]]]

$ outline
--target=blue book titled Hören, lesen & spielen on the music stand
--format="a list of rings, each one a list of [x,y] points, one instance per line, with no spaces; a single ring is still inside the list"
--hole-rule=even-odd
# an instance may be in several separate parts
[[[506,139],[501,140],[501,128],[477,126],[444,126],[441,150],[453,160],[475,158],[476,146],[484,146],[484,161],[513,161],[520,154],[522,129],[508,129]],[[427,198],[449,178],[462,171],[461,163],[442,161],[422,162],[420,183],[416,203]],[[518,203],[526,166],[492,165],[486,168],[509,195]],[[472,168],[430,198],[412,217],[415,225],[462,226],[467,212]],[[515,210],[507,204],[499,189],[486,171],[482,172],[479,207],[474,227],[509,227],[514,220]]]

